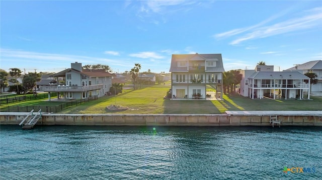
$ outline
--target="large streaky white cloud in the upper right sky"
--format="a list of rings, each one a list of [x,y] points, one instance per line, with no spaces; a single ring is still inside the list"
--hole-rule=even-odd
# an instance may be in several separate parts
[[[286,11],[288,12],[288,11]],[[241,37],[237,37],[235,40],[230,42],[230,45],[237,45],[244,41],[266,38],[270,36],[286,34],[290,32],[306,30],[309,28],[317,27],[321,25],[322,20],[322,12],[321,8],[314,8],[306,11],[305,16],[294,18],[290,20],[286,20],[283,22],[275,23],[269,26],[263,26],[272,20],[277,19],[278,17],[284,15],[286,12],[275,15],[257,25],[247,27],[247,28],[238,28],[234,30],[230,30],[224,33],[214,35],[215,38],[227,38],[235,35],[241,34]],[[244,34],[247,33],[247,34]]]

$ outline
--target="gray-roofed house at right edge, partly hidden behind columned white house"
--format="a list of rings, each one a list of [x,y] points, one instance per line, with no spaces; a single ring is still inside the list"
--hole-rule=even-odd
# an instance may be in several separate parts
[[[317,75],[317,84],[312,84],[311,92],[322,92],[322,60],[309,61],[304,64],[296,65],[285,71],[298,71],[302,74],[313,72]]]

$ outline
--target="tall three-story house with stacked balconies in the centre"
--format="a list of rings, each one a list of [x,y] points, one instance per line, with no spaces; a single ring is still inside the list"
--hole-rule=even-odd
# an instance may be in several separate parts
[[[172,55],[172,97],[206,99],[207,85],[216,89],[216,99],[222,94],[224,72],[221,54]]]

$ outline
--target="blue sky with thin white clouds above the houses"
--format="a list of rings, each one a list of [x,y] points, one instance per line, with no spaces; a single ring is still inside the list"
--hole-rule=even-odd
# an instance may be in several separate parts
[[[172,54],[222,54],[225,70],[322,59],[322,1],[1,1],[0,68],[169,72]]]

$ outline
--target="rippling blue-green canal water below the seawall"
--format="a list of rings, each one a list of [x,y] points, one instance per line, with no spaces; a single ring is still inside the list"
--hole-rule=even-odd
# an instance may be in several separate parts
[[[1,125],[0,138],[0,179],[322,179],[322,127]]]

